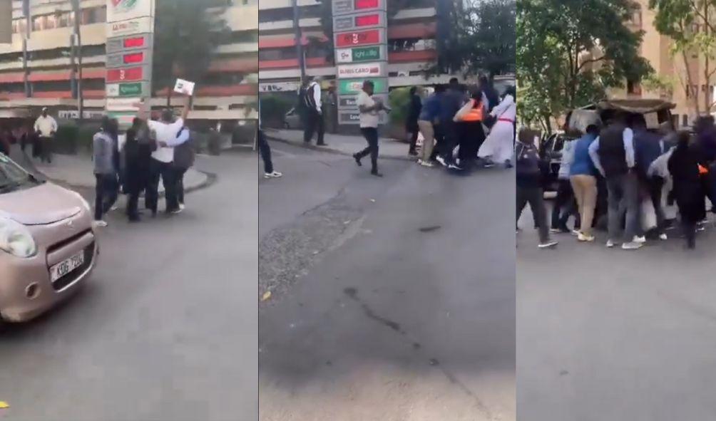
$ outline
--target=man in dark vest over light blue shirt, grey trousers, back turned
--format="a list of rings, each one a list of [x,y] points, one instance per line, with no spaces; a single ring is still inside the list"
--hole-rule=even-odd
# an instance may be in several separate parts
[[[609,239],[606,247],[614,247],[619,237],[619,228],[626,212],[627,224],[624,229],[625,250],[639,249],[644,245],[637,238],[639,222],[639,179],[634,157],[634,132],[627,127],[626,116],[616,115],[599,137],[589,145],[589,156],[594,167],[606,179],[608,200]]]

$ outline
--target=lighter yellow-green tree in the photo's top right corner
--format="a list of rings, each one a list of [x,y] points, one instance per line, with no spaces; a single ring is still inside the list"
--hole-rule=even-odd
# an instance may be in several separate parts
[[[711,86],[716,73],[713,61],[716,59],[716,0],[649,0],[649,9],[656,11],[654,26],[659,34],[669,36],[674,42],[671,53],[680,56],[684,64],[682,88],[692,100],[697,114],[710,113],[716,105],[710,89],[705,89],[703,102],[700,89],[693,89],[697,83],[697,69],[692,56],[703,60],[704,84]]]

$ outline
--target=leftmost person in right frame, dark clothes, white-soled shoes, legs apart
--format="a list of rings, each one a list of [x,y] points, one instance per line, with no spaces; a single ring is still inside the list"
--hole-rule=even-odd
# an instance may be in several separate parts
[[[557,242],[549,237],[547,210],[544,205],[541,180],[542,167],[546,163],[541,162],[539,158],[537,147],[533,142],[533,134],[531,130],[521,130],[520,142],[517,142],[516,145],[517,221],[520,220],[522,211],[529,204],[539,232],[538,247],[548,249],[556,246]]]

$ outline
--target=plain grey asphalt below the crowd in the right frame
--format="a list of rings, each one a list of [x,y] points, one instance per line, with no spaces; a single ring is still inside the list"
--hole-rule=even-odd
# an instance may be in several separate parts
[[[525,421],[713,420],[716,232],[694,252],[669,232],[637,251],[558,236],[538,250],[521,219],[517,406]]]

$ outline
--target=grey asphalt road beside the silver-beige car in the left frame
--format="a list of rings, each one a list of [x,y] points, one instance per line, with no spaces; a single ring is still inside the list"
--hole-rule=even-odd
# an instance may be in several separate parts
[[[112,214],[84,289],[1,333],[0,419],[256,420],[256,164],[200,157],[183,214]]]

